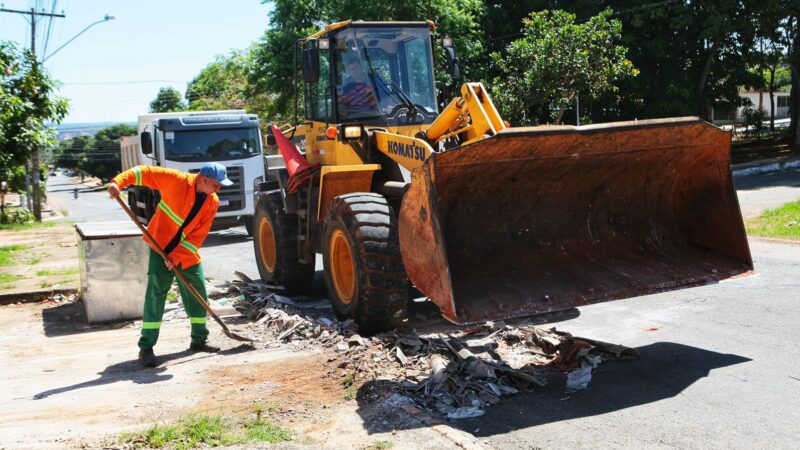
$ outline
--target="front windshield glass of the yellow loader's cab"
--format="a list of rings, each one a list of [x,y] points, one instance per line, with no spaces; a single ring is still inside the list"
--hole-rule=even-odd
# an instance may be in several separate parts
[[[436,117],[427,28],[353,27],[335,45],[339,120]]]

